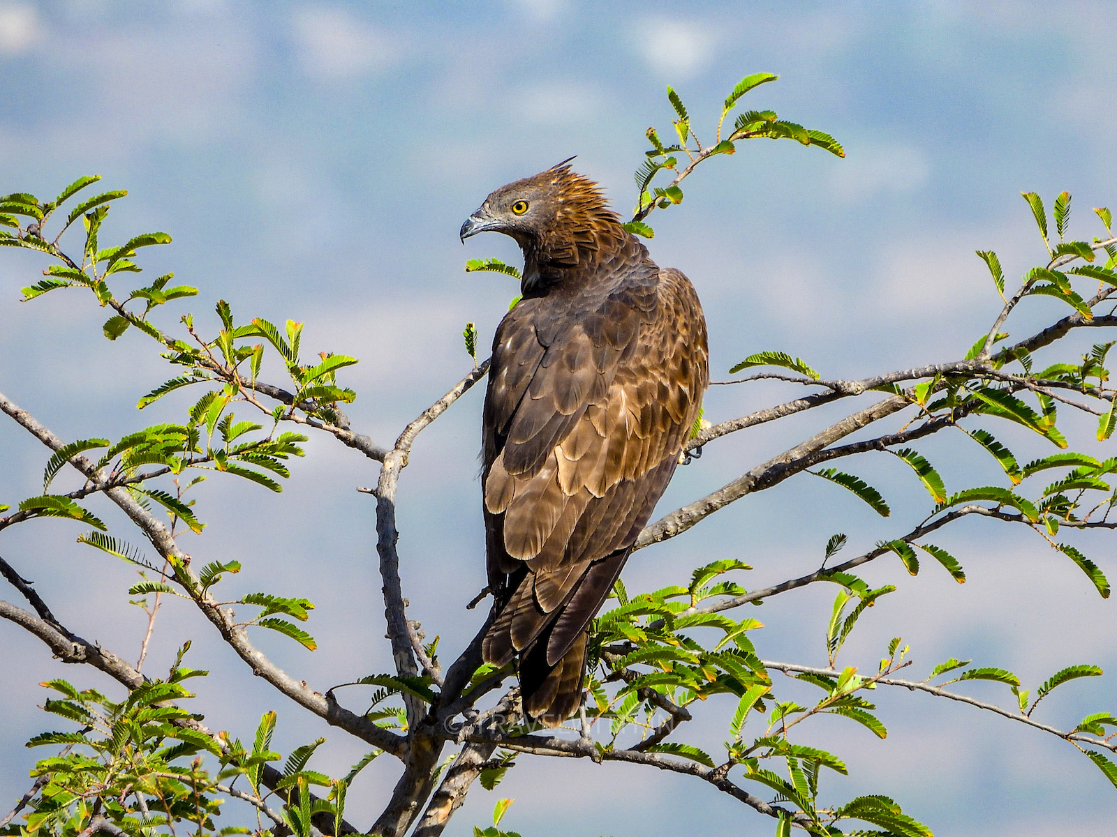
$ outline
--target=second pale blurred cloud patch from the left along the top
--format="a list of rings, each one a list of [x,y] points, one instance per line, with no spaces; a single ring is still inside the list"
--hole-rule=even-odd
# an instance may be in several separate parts
[[[361,78],[399,55],[398,39],[344,9],[307,7],[292,26],[303,69],[321,80]]]

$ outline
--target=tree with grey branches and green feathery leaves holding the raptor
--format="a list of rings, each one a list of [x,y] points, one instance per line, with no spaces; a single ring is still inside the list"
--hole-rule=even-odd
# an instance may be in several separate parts
[[[827,134],[782,121],[771,110],[743,110],[744,103],[755,98],[754,88],[774,78],[757,74],[743,79],[705,141],[691,126],[680,97],[669,92],[675,138],[648,131],[651,147],[638,172],[637,205],[624,224],[626,235],[650,238],[649,218],[681,202],[681,184],[698,165],[741,151],[745,140],[790,138],[842,154]],[[32,770],[27,793],[0,819],[0,833],[155,835],[173,834],[187,824],[192,833],[211,834],[239,816],[241,833],[309,837],[357,830],[402,835],[413,829],[429,837],[442,831],[475,786],[491,791],[509,770],[529,770],[535,758],[557,757],[589,759],[602,763],[602,770],[610,769],[605,762],[623,761],[677,773],[679,781],[700,780],[712,791],[771,818],[777,835],[793,828],[840,834],[866,822],[879,834],[926,835],[928,829],[888,796],[841,798],[827,779],[846,773],[847,763],[811,737],[823,715],[837,715],[851,733],[884,738],[885,719],[875,698],[891,689],[964,703],[989,714],[991,722],[1019,723],[1056,735],[1117,785],[1117,716],[1090,706],[1083,708],[1077,724],[1056,725],[1042,720],[1039,705],[1054,689],[1099,675],[1097,666],[1066,665],[1042,682],[1024,684],[989,661],[949,658],[935,664],[920,658],[918,642],[909,648],[894,639],[881,650],[879,661],[851,662],[844,651],[871,605],[896,589],[892,584],[871,586],[858,577],[858,568],[889,560],[897,584],[901,579],[917,584],[909,576],[919,573],[920,559],[926,564],[930,558],[934,571],[964,581],[962,561],[967,555],[955,550],[955,557],[938,542],[963,518],[1028,530],[1037,542],[1050,547],[1054,558],[1072,570],[1077,565],[1085,574],[1078,576],[1083,585],[1108,597],[1104,569],[1085,555],[1082,536],[1098,530],[1108,537],[1108,530],[1117,528],[1111,519],[1117,458],[1075,452],[1087,442],[1107,444],[1117,422],[1106,366],[1113,346],[1107,337],[1117,326],[1113,296],[1117,240],[1108,210],[1095,211],[1098,235],[1076,239],[1070,234],[1067,193],[1054,201],[1053,232],[1040,198],[1025,194],[1040,228],[1042,263],[1015,285],[1003,275],[994,253],[978,252],[992,275],[990,298],[995,305],[989,329],[974,336],[968,352],[960,347],[956,360],[840,379],[824,377],[793,354],[743,346],[747,357],[731,373],[760,372],[714,383],[750,386],[776,381],[800,394],[732,417],[723,406],[725,391],[715,388],[707,395],[705,415],[716,421],[695,419],[680,440],[682,450],[716,445],[731,434],[793,415],[809,414],[809,421],[820,414],[812,411],[838,402],[850,404],[848,413],[839,421],[828,413],[831,419],[815,422],[809,435],[767,461],[743,462],[738,478],[645,527],[632,549],[674,538],[727,504],[801,474],[851,491],[889,518],[892,504],[882,492],[852,473],[856,466],[849,471],[836,466],[834,460],[855,456],[887,458],[926,489],[926,507],[905,510],[911,523],[900,528],[882,520],[876,537],[868,540],[834,535],[818,545],[819,569],[783,580],[748,585],[751,566],[738,556],[726,556],[653,591],[631,594],[620,580],[610,583],[603,612],[589,623],[586,676],[576,711],[558,729],[547,730],[525,715],[515,665],[483,662],[489,625],[464,651],[451,648],[457,656],[446,657],[447,643],[437,636],[427,641],[422,626],[409,618],[399,571],[408,557],[399,551],[397,487],[409,458],[424,455],[416,449],[419,434],[488,374],[489,360],[476,362],[476,328],[465,333],[474,363],[462,358],[460,381],[408,424],[394,443],[378,444],[354,429],[343,411],[355,397],[344,385],[344,369],[356,360],[330,352],[308,358],[300,347],[299,323],[279,328],[259,318],[242,321],[235,319],[226,302],[218,304],[216,317],[165,321],[168,305],[181,304],[197,291],[175,285],[171,275],[134,281],[143,249],[165,244],[170,238],[149,233],[103,247],[109,209],[125,193],[83,198],[93,193],[96,182],[83,177],[52,201],[22,192],[4,195],[0,244],[38,251],[48,261],[42,278],[23,290],[26,300],[39,304],[39,298],[58,291],[84,292],[95,305],[111,309],[103,325],[105,337],[135,340],[136,352],[153,347],[170,373],[166,381],[149,382],[136,373],[136,406],[142,410],[168,397],[180,401],[181,413],[174,423],[143,427],[117,440],[96,436],[94,429],[82,439],[64,440],[17,404],[20,396],[0,395],[0,411],[11,420],[12,430],[49,449],[42,454],[41,492],[0,498],[7,502],[0,504],[4,556],[0,574],[21,599],[0,602],[0,617],[37,637],[59,661],[92,666],[112,681],[109,694],[63,679],[44,684],[51,693],[44,708],[63,729],[30,742],[48,752]],[[521,279],[525,275],[493,259],[471,261],[467,270],[495,270]],[[128,290],[133,285],[141,287]],[[535,289],[527,288],[525,296],[532,292]],[[1037,297],[1067,308],[1044,328],[1010,336],[1011,315]],[[283,381],[265,379],[266,369],[279,369]],[[1060,423],[1068,413],[1090,416],[1097,427],[1090,435],[1096,439],[1076,439],[1078,425]],[[1004,436],[1002,429],[1024,429],[1030,434],[1012,442],[1018,453],[999,437]],[[256,646],[255,637],[265,631],[279,633],[308,651],[319,641],[331,642],[333,637],[316,639],[307,629],[313,604],[297,589],[223,594],[232,574],[264,579],[266,567],[251,555],[238,560],[208,558],[206,541],[198,537],[207,510],[203,480],[232,481],[242,492],[279,491],[290,469],[297,468],[293,463],[304,454],[309,433],[334,437],[379,469],[370,492],[376,501],[391,672],[338,671],[331,683],[319,684],[285,672]],[[1001,477],[990,484],[948,488],[961,478],[943,466],[945,454],[939,454],[936,468],[917,449],[933,435],[953,440],[949,456],[955,459],[989,456]],[[1021,454],[1020,446],[1029,444],[1037,450]],[[258,497],[241,493],[223,502],[251,504],[259,513]],[[98,510],[106,503],[124,512],[139,530],[142,546],[128,542],[123,532],[108,531],[104,520],[109,518]],[[3,547],[4,530],[42,518],[69,521],[57,525],[75,526],[78,540],[103,559],[135,565],[141,578],[122,589],[121,597],[140,603],[146,613],[136,665],[126,662],[120,650],[105,648],[73,631],[68,604],[47,603],[27,580],[34,575],[36,556],[13,555]],[[700,538],[701,530],[688,537]],[[851,550],[857,540],[866,542]],[[856,555],[842,558],[850,551]],[[779,566],[764,555],[747,559],[763,564],[765,573]],[[822,583],[836,588],[832,606],[800,618],[814,618],[823,642],[803,648],[803,663],[766,660],[763,625],[742,615],[741,608]],[[322,739],[296,748],[286,759],[273,750],[275,712],[266,713],[256,730],[216,731],[211,724],[220,719],[202,723],[191,712],[189,690],[216,686],[209,686],[204,671],[185,667],[187,658],[201,662],[193,660],[197,651],[188,654],[189,644],[183,646],[165,674],[153,675],[143,667],[149,644],[160,637],[155,631],[160,607],[169,598],[195,608],[202,617],[199,624],[208,623],[204,629],[217,632],[245,663],[246,673],[326,721],[332,735],[364,742],[367,756],[347,773],[328,777],[312,762],[319,747],[330,745]],[[468,598],[462,595],[462,607]],[[366,608],[366,604],[352,606]],[[972,696],[967,686],[978,680],[1002,684],[1002,699]],[[712,695],[732,695],[732,701],[707,702]],[[726,730],[722,748],[704,749],[688,740],[693,720],[726,708],[719,718]],[[378,804],[375,820],[353,825],[345,810],[347,791],[360,787],[362,771],[374,759],[378,768],[394,759],[398,780]],[[498,804],[495,822],[484,834],[504,834],[499,824],[505,810],[507,800]]]

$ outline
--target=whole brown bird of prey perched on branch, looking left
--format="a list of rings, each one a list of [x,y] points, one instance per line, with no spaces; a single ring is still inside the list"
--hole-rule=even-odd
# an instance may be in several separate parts
[[[493,192],[461,239],[486,231],[516,240],[524,271],[485,394],[483,653],[518,657],[524,710],[556,727],[581,703],[590,620],[698,416],[706,320],[570,161]]]

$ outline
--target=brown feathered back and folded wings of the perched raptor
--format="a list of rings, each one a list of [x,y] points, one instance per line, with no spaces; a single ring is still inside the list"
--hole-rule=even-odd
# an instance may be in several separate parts
[[[521,654],[525,692],[528,657],[553,667],[579,646],[670,480],[708,383],[701,308],[678,271],[658,271],[643,292],[589,300],[554,327],[525,305],[540,301],[502,323],[485,407],[498,614],[484,654],[494,664]]]

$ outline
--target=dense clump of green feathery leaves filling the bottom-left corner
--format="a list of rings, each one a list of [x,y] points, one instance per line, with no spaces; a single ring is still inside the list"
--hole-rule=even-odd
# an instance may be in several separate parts
[[[77,837],[95,816],[137,837],[181,834],[183,825],[197,835],[270,834],[217,824],[214,818],[229,798],[228,786],[241,776],[247,785],[241,783],[240,791],[257,806],[278,808],[295,834],[311,837],[314,815],[326,815],[334,834],[340,834],[349,783],[379,751],[362,759],[346,778],[331,779],[307,769],[324,741],[318,739],[290,753],[283,778],[269,790],[262,782],[265,766],[281,760],[271,750],[276,713],[266,712],[260,719],[250,750],[225,733],[214,738],[204,732],[197,716],[180,705],[193,696],[181,681],[206,675],[181,667],[188,650],[189,643],[165,680],[143,683],[123,702],[96,690],[78,691],[64,680],[44,683],[63,695],[47,700],[44,709],[80,729],[41,733],[28,742],[28,747],[64,749],[40,759],[31,773],[44,783],[37,786],[22,817],[27,830],[20,830],[17,821],[0,834]],[[328,789],[325,798],[313,798],[312,785]]]

